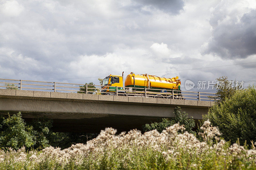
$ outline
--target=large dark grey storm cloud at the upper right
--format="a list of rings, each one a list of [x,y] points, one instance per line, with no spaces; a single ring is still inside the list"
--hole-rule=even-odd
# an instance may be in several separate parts
[[[256,10],[245,13],[240,21],[236,15],[226,20],[223,17],[227,16],[217,14],[210,20],[212,40],[204,54],[213,53],[223,58],[246,58],[256,54]]]

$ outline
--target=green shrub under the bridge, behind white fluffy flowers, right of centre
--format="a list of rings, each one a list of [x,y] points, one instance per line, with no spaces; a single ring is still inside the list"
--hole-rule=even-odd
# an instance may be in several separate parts
[[[163,118],[162,122],[154,122],[151,124],[146,124],[145,126],[143,126],[143,130],[144,131],[150,131],[153,129],[156,129],[158,132],[162,132],[165,128],[175,124],[175,123],[180,123],[181,125],[184,125],[184,127],[186,128],[186,130],[189,133],[192,133],[192,128],[195,127],[195,121],[193,119],[193,117],[191,116],[191,118],[188,118],[188,114],[183,112],[181,113],[181,109],[180,107],[176,107],[174,108],[174,118],[171,118],[171,120],[168,120],[167,118]]]

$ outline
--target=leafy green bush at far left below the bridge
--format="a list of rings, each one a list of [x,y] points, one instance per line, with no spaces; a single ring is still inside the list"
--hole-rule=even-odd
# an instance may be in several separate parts
[[[32,147],[35,143],[35,137],[33,135],[33,127],[26,126],[26,123],[21,118],[21,113],[8,118],[1,118],[0,129],[0,147],[11,147],[13,149],[19,149],[22,146],[26,148]]]

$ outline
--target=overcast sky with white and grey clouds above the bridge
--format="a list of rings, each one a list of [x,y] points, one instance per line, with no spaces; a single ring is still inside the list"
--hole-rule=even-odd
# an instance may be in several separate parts
[[[249,62],[255,0],[0,1],[0,78],[99,84],[124,71],[195,84],[256,80]],[[249,64],[186,70],[239,63]]]

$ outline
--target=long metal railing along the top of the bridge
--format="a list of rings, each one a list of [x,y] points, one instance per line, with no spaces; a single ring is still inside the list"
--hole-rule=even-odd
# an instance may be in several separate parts
[[[47,92],[71,92],[86,94],[104,94],[118,96],[153,97],[165,99],[185,99],[199,101],[213,101],[216,93],[193,92],[165,89],[148,89],[137,87],[118,87],[108,85],[89,85],[60,82],[44,82],[32,80],[14,80],[0,78],[0,89],[33,90]]]

